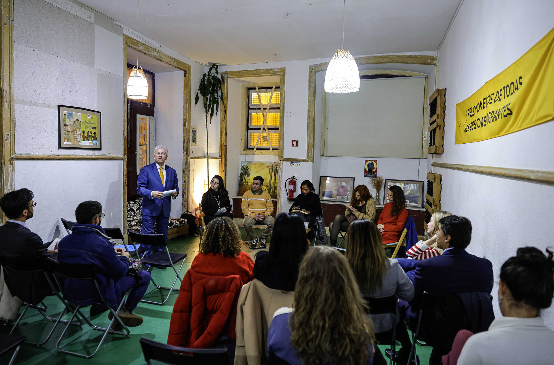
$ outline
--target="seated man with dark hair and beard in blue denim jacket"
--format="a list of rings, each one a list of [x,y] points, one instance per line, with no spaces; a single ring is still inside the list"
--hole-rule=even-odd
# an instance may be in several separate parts
[[[77,223],[71,229],[71,234],[65,236],[58,244],[58,260],[94,266],[102,297],[114,310],[117,310],[122,293],[131,289],[119,316],[126,326],[139,326],[143,321],[142,317],[134,315],[132,311],[146,293],[150,273],[139,271],[137,278],[125,276],[129,270],[129,253],[123,249],[114,249],[110,237],[106,236],[100,227],[102,217],[102,205],[98,201],[87,200],[79,204],[75,209]],[[66,278],[64,291],[81,306],[100,302],[93,281],[83,282]],[[111,320],[111,312],[108,317]]]

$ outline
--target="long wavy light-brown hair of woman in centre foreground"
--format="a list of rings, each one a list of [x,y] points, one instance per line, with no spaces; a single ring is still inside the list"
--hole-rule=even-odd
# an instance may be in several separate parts
[[[346,258],[310,249],[300,263],[290,343],[303,364],[365,364],[375,341],[371,318]]]

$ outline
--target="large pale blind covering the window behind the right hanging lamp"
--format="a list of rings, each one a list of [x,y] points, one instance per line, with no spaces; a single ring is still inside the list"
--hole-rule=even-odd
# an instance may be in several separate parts
[[[325,156],[422,158],[425,77],[360,80],[325,93]]]

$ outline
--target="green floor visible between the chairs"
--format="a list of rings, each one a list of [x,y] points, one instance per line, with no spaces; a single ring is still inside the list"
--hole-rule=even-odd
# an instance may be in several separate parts
[[[244,230],[242,228],[240,230],[244,237]],[[168,247],[172,252],[184,252],[187,254],[181,271],[183,275],[184,272],[186,272],[190,268],[194,256],[198,254],[198,237],[191,236],[178,238],[170,241]],[[259,250],[250,250],[248,247],[243,245],[243,251],[248,252],[248,254],[250,254],[250,256],[254,258],[255,253]],[[161,285],[163,286],[171,286],[171,284],[173,283],[173,279],[175,278],[175,273],[171,269],[154,269],[152,276],[155,278],[158,285],[161,282]],[[153,286],[151,285],[151,287]],[[176,287],[179,287],[179,282],[176,284]],[[151,300],[159,301],[161,296],[158,291],[154,291],[150,295],[148,295],[148,298],[150,298]],[[142,325],[139,327],[130,328],[131,334],[128,337],[108,334],[106,336],[106,339],[104,340],[104,344],[102,344],[102,347],[91,359],[71,356],[69,354],[59,353],[55,350],[55,343],[57,341],[57,338],[60,336],[61,331],[63,331],[64,326],[63,324],[60,324],[58,328],[56,328],[56,330],[54,331],[52,338],[50,338],[50,340],[43,346],[35,346],[26,343],[23,344],[17,355],[16,363],[101,363],[116,365],[145,364],[146,362],[142,357],[139,339],[141,337],[147,337],[150,339],[154,339],[155,341],[160,341],[163,343],[167,342],[167,333],[169,331],[171,313],[176,298],[177,292],[174,292],[167,300],[166,304],[163,306],[140,303],[134,313],[142,316],[144,318],[144,323],[142,323]],[[62,305],[57,297],[49,297],[44,301],[44,303],[48,306],[48,314],[59,315],[62,309]],[[85,308],[83,310],[83,313],[85,315],[88,315],[89,308]],[[94,317],[92,322],[94,325],[105,327],[107,324],[109,324],[109,320],[107,319],[107,312]],[[22,320],[22,322],[19,323],[18,328],[16,329],[16,331],[14,331],[14,334],[22,334],[23,336],[27,337],[29,341],[38,342],[39,338],[43,338],[47,335],[47,333],[50,331],[50,328],[52,328],[52,325],[53,322],[46,321],[36,311],[29,310],[28,313],[25,314],[25,318]],[[0,325],[0,333],[8,334],[11,327],[12,325],[9,323]],[[68,346],[68,349],[70,349],[70,351],[92,353],[98,345],[101,336],[101,332],[94,331],[86,325],[83,327],[71,326],[70,329],[68,329],[68,334],[66,334],[66,336],[64,337],[63,344]],[[381,348],[381,351],[384,354],[384,349],[387,347],[379,346],[379,348]],[[429,361],[430,347],[418,347],[417,351],[422,364],[427,364]],[[0,364],[7,364],[10,357],[11,353],[4,354],[4,356],[0,357]]]

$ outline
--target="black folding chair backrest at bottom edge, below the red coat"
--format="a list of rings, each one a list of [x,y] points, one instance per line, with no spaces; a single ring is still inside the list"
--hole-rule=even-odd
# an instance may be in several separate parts
[[[142,337],[140,339],[142,354],[148,365],[151,360],[166,364],[189,365],[227,365],[227,347],[223,348],[186,348],[152,341]]]

